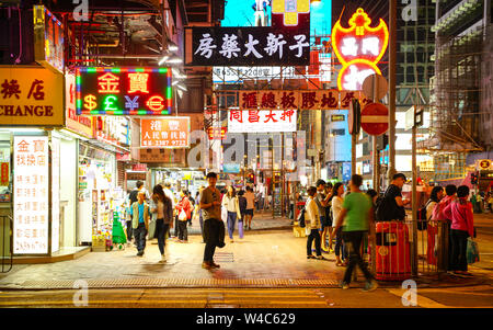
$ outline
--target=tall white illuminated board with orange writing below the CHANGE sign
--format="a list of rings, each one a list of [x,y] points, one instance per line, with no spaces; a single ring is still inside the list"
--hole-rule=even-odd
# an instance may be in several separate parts
[[[14,136],[13,253],[48,253],[48,137]]]

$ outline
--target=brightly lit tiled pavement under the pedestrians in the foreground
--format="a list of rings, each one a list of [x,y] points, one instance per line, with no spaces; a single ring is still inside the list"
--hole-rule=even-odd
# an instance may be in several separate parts
[[[289,219],[257,218],[254,230],[246,230],[242,240],[237,231],[234,242],[227,238],[226,247],[216,249],[218,270],[202,269],[204,243],[200,235],[192,234],[188,243],[168,240],[167,263],[159,263],[159,249],[152,240],[141,258],[134,247],[127,247],[57,263],[14,265],[0,277],[0,289],[73,288],[78,280],[90,288],[336,286],[344,269],[335,266],[334,255],[325,254],[328,261],[307,260],[306,238],[295,238],[289,224]]]

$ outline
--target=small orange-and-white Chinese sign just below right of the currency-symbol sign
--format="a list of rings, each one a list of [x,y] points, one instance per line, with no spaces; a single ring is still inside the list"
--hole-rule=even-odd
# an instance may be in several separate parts
[[[190,117],[142,118],[140,147],[188,148]]]

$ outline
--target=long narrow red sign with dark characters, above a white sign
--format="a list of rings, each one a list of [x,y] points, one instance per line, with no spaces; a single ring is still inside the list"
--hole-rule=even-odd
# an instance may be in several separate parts
[[[336,110],[348,109],[353,98],[359,99],[355,91],[302,90],[302,91],[240,91],[240,110]]]

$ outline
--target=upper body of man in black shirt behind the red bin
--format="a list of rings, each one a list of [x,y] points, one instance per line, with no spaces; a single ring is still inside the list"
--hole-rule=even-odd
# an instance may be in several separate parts
[[[377,206],[377,219],[379,221],[403,221],[405,219],[404,206],[411,201],[402,198],[402,187],[408,179],[402,173],[392,177],[383,198]]]

